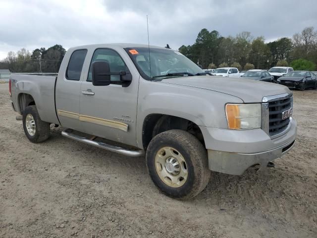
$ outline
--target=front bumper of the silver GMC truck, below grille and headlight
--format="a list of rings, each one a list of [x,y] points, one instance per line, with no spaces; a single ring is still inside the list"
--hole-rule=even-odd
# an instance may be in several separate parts
[[[288,131],[271,138],[262,129],[228,130],[201,127],[211,171],[242,175],[253,165],[263,170],[269,161],[281,157],[295,142],[297,122],[290,120]],[[207,140],[206,140],[207,139]]]

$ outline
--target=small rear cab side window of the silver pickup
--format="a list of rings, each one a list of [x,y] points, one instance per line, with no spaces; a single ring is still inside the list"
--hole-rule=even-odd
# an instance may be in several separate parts
[[[87,50],[77,50],[71,54],[66,70],[66,79],[79,81]]]

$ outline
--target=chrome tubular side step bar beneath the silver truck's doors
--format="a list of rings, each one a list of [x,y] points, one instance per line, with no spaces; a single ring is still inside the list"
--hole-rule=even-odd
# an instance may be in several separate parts
[[[76,134],[73,134],[71,132],[72,132],[72,130],[66,129],[66,130],[63,130],[61,132],[61,135],[65,136],[67,138],[73,139],[73,140],[77,140],[79,142],[83,142],[83,143],[86,143],[89,145],[96,146],[98,148],[112,151],[112,152],[115,152],[115,153],[118,153],[121,155],[126,155],[126,156],[130,156],[130,157],[138,157],[138,156],[143,155],[143,150],[127,150],[127,149],[124,149],[124,148],[119,147],[119,146],[114,146],[114,145],[109,145],[109,144],[106,144],[103,142],[93,141],[93,140],[87,139],[84,136],[76,135]]]

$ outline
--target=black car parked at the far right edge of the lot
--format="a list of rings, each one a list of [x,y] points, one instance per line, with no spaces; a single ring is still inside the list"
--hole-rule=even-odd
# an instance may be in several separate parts
[[[306,88],[317,89],[317,77],[310,71],[291,71],[277,79],[277,82],[289,88],[298,88],[302,91]]]

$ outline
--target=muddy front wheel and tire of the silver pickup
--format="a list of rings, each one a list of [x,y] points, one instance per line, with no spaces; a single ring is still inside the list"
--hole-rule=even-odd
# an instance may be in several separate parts
[[[156,135],[148,146],[146,164],[155,185],[173,198],[195,197],[211,176],[207,150],[194,135],[183,130]]]

